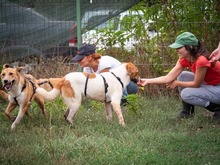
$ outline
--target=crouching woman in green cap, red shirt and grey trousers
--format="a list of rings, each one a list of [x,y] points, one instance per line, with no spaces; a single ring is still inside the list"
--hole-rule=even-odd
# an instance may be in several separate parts
[[[178,87],[182,99],[180,118],[194,115],[194,106],[214,112],[213,119],[220,119],[220,63],[209,62],[209,53],[190,32],[177,36],[169,47],[176,49],[179,59],[165,76],[141,79],[139,85],[166,84],[168,88]],[[189,68],[192,72],[185,71]]]

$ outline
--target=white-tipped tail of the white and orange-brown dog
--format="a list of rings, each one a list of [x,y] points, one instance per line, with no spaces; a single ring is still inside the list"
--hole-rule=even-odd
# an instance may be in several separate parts
[[[50,92],[40,87],[36,89],[36,92],[40,94],[45,100],[52,101],[61,93],[61,88],[64,84],[64,81],[65,78],[61,78]]]

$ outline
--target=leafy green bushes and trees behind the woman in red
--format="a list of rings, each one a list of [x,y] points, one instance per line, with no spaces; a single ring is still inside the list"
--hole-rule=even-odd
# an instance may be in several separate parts
[[[153,1],[151,5],[142,1],[134,6],[130,12],[137,11],[144,13],[144,22],[141,19],[130,15],[119,22],[119,31],[103,29],[101,40],[105,41],[107,47],[119,43],[124,50],[125,42],[135,39],[135,48],[131,51],[132,59],[136,63],[149,64],[152,67],[153,75],[164,75],[164,71],[170,70],[175,65],[178,56],[175,50],[168,46],[175,41],[177,35],[184,31],[194,33],[200,41],[203,41],[209,51],[214,50],[220,40],[220,1],[196,1],[196,0],[168,0]],[[149,24],[149,30],[158,32],[157,37],[150,39],[145,30]],[[130,32],[123,35],[123,32]],[[105,43],[104,42],[104,43]],[[121,56],[123,56],[123,54]],[[117,56],[120,58],[120,56]],[[148,75],[148,74],[147,74]],[[144,76],[144,75],[143,75]]]

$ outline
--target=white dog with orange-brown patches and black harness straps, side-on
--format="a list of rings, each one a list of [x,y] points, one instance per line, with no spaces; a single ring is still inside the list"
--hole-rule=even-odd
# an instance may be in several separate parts
[[[36,91],[49,101],[61,94],[68,107],[66,120],[70,123],[72,123],[73,117],[81,105],[82,97],[87,97],[105,102],[108,120],[112,119],[112,106],[119,124],[125,126],[120,107],[122,92],[130,80],[137,82],[139,79],[137,67],[132,63],[124,63],[110,70],[110,72],[101,74],[69,73],[61,78],[52,91],[47,92],[43,88],[37,88]]]

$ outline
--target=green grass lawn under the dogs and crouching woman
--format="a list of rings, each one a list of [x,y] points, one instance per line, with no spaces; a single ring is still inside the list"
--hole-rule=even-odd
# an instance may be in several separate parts
[[[176,118],[181,102],[169,97],[139,97],[124,108],[126,127],[114,114],[107,122],[102,103],[86,101],[69,125],[61,99],[47,103],[48,118],[33,104],[14,131],[0,113],[0,164],[155,164],[217,165],[220,129],[206,110],[196,107],[193,119]],[[138,110],[134,110],[138,108]]]

